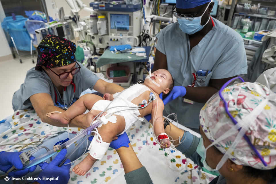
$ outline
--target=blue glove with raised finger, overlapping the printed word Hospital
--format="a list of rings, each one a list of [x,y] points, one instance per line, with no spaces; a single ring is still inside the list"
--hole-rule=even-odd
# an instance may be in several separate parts
[[[62,149],[59,154],[51,161],[49,164],[47,163],[40,163],[39,166],[41,166],[43,171],[38,175],[38,178],[41,180],[35,180],[36,182],[40,184],[66,184],[68,183],[70,179],[69,170],[71,167],[71,164],[63,165],[59,167],[58,165],[60,162],[64,159],[65,155],[67,153],[66,149]],[[67,159],[64,164],[67,164],[71,162],[69,159]],[[58,177],[57,180],[42,180],[43,177],[51,178],[51,177]]]

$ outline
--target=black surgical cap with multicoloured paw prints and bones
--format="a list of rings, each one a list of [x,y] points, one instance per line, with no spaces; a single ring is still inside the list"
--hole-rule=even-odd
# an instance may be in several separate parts
[[[45,36],[39,43],[37,52],[36,70],[42,65],[53,68],[69,65],[76,61],[76,44],[56,35]]]

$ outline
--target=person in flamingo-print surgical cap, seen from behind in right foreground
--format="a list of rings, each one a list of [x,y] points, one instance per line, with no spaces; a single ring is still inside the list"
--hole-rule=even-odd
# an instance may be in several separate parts
[[[227,84],[197,116],[201,138],[173,124],[165,131],[174,145],[181,140],[177,150],[203,171],[218,173],[209,184],[275,184],[276,94],[259,83]],[[133,166],[125,178],[127,184],[152,184],[144,167]]]

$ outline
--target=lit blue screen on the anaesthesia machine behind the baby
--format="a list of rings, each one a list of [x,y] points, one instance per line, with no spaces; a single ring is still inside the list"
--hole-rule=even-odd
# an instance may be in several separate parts
[[[129,15],[127,14],[110,14],[110,28],[120,31],[129,30]]]

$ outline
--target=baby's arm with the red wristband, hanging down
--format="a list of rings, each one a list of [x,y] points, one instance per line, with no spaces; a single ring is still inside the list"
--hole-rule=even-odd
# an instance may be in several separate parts
[[[164,130],[163,110],[164,103],[159,97],[157,97],[156,100],[152,102],[152,122],[154,127],[153,131],[157,136],[160,144],[162,144],[164,147],[169,147],[170,140],[168,139],[168,136]]]

